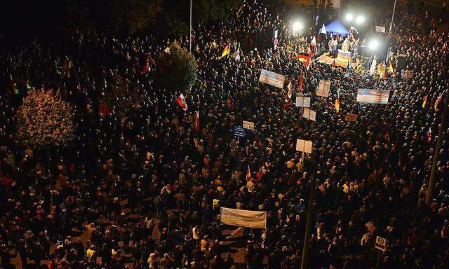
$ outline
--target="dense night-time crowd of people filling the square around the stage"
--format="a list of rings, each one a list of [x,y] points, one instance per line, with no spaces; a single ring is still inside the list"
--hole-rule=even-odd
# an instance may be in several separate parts
[[[389,46],[406,55],[406,81],[400,69],[380,80],[319,62],[306,68],[295,53],[309,49],[310,36],[290,29],[256,0],[195,29],[199,83],[187,111],[179,92],[156,87],[154,70],[140,71],[168,40],[90,32],[72,36],[64,53],[37,41],[1,52],[2,76],[18,85],[0,97],[1,268],[16,254],[22,268],[42,260],[45,268],[300,268],[312,186],[309,268],[373,268],[376,236],[387,239],[382,268],[448,268],[449,129],[433,201],[424,203],[443,110],[434,104],[448,98],[448,35],[396,23]],[[65,55],[74,68],[61,79]],[[302,118],[285,88],[258,83],[260,69],[285,75],[293,102],[311,97],[316,121]],[[114,74],[142,96],[126,117],[98,114]],[[332,83],[329,97],[315,96],[321,79]],[[76,110],[76,139],[51,160],[14,135],[25,81],[60,91]],[[391,90],[389,103],[359,104],[358,88]],[[238,139],[243,120],[255,131]],[[311,140],[313,151],[302,156],[296,139]],[[265,211],[267,228],[246,229],[229,247],[220,207]]]

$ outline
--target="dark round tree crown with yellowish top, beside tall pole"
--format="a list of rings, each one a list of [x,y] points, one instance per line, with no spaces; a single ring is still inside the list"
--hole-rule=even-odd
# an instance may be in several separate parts
[[[175,42],[156,61],[156,83],[170,90],[189,92],[197,79],[198,64],[192,53]]]

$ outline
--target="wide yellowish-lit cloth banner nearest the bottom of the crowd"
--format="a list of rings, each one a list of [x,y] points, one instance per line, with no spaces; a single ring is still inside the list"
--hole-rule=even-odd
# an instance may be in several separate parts
[[[267,228],[267,212],[220,207],[223,224],[248,228]]]

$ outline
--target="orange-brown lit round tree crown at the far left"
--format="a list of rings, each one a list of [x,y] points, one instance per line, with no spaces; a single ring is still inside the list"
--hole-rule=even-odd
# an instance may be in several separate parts
[[[74,137],[74,113],[52,90],[29,90],[18,109],[17,135],[22,144],[38,149],[66,144]]]

